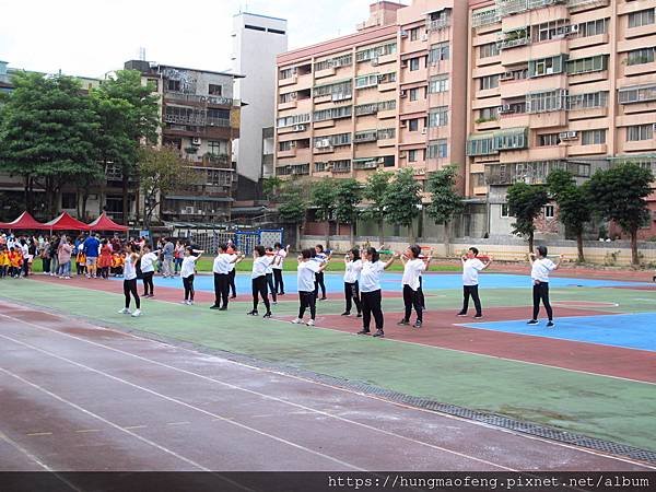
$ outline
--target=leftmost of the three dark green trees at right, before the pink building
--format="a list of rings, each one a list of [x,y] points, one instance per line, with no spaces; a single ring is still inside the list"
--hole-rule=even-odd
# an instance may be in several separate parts
[[[515,183],[508,187],[508,214],[515,218],[513,234],[528,237],[528,250],[534,250],[535,220],[549,203],[547,189],[541,185]]]

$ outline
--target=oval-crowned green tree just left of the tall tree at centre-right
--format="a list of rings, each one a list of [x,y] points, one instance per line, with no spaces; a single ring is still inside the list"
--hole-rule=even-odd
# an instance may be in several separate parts
[[[385,192],[385,216],[393,224],[408,227],[408,241],[414,243],[412,222],[421,210],[421,185],[412,169],[399,169]]]

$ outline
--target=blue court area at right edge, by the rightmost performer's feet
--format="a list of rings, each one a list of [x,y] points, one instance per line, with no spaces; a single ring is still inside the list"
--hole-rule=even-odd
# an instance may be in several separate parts
[[[559,318],[558,308],[554,308],[553,314],[555,328],[547,328],[546,319],[540,319],[539,325],[527,325],[527,320],[520,320],[472,323],[464,326],[656,352],[656,330],[654,329],[656,313]],[[543,311],[540,312],[540,315],[543,315]]]

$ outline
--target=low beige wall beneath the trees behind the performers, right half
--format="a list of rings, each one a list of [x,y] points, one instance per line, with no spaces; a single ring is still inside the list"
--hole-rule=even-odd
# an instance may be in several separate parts
[[[323,244],[324,236],[304,235],[301,238],[301,247],[314,247],[316,244]],[[355,245],[363,246],[366,243],[374,247],[378,247],[377,236],[356,236]],[[421,246],[433,248],[434,255],[437,257],[456,258],[465,253],[469,247],[476,246],[481,254],[491,255],[496,260],[502,261],[523,261],[526,260],[528,254],[528,243],[515,237],[494,238],[494,239],[468,239],[456,238],[452,241],[448,255],[443,243],[433,243],[431,241],[419,241]],[[563,255],[565,261],[576,261],[576,242],[574,241],[536,241],[536,245],[549,247],[549,255]],[[385,237],[385,246],[395,251],[403,250],[408,247],[406,237],[387,236]],[[330,238],[330,248],[337,253],[343,253],[350,249],[352,245],[348,236],[332,236]],[[585,242],[584,253],[586,260],[599,265],[631,265],[631,246],[626,241],[613,241],[610,243],[601,242]],[[639,243],[639,251],[643,263],[656,263],[656,243],[644,242]]]

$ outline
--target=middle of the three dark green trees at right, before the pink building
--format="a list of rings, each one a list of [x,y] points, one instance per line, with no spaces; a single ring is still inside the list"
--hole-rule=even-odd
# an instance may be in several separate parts
[[[576,236],[578,261],[584,262],[583,231],[593,220],[593,203],[588,194],[588,184],[576,186],[574,175],[565,169],[557,169],[547,178],[549,192],[558,203],[559,219]]]

